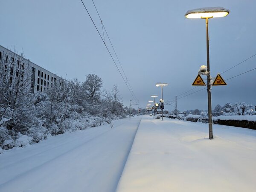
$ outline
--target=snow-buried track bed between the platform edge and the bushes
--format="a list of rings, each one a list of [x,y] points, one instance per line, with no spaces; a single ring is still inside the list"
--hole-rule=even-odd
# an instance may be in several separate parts
[[[0,155],[0,192],[113,192],[141,117],[54,136]]]

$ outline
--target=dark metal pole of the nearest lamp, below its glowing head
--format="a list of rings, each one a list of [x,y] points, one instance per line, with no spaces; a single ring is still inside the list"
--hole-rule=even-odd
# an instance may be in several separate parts
[[[208,124],[209,124],[209,139],[213,138],[212,135],[212,98],[211,98],[211,85],[210,84],[210,59],[209,59],[209,34],[208,34],[208,18],[205,18],[206,23],[206,49],[207,49],[207,96],[208,96]]]

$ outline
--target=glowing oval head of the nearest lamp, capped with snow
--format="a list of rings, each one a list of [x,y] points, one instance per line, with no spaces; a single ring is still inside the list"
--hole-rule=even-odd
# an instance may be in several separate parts
[[[230,11],[223,7],[196,8],[186,12],[185,17],[189,19],[225,17]]]

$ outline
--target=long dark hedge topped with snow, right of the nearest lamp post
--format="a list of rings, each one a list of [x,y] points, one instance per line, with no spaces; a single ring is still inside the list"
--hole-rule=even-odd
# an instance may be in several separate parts
[[[256,116],[218,116],[213,118],[213,121],[215,124],[256,130]]]

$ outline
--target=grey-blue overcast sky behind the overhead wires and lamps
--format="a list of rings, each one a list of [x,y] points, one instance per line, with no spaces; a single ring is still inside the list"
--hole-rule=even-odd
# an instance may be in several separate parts
[[[83,1],[102,34],[92,1]],[[198,69],[207,64],[205,20],[186,19],[184,14],[189,9],[222,6],[230,10],[227,17],[209,20],[211,76],[256,54],[255,0],[94,0],[94,3],[140,100],[139,107],[146,106],[150,95],[160,96],[156,82],[169,83],[163,90],[165,101],[194,88],[191,84]],[[103,80],[102,90],[110,90],[116,84],[125,106],[133,100],[81,0],[2,0],[0,26],[0,45],[12,51],[14,47],[17,52],[23,50],[27,59],[68,79],[83,82],[87,74],[95,73]],[[111,50],[110,43],[106,44]],[[114,56],[113,50],[111,53]],[[256,56],[222,77],[228,79],[253,68]],[[256,104],[256,70],[228,80],[227,86],[212,88],[212,108],[239,101]],[[165,108],[174,109],[170,105]],[[206,110],[207,91],[178,99],[177,108]]]

